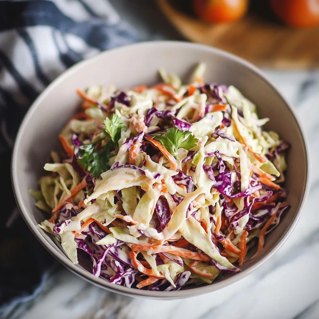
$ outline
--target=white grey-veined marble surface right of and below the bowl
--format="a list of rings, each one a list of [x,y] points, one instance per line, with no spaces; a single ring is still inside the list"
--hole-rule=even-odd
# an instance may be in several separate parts
[[[43,291],[15,308],[22,319],[319,318],[319,71],[266,70],[295,106],[311,149],[311,189],[300,220],[281,249],[242,280],[206,295],[174,301],[109,293],[59,268]]]

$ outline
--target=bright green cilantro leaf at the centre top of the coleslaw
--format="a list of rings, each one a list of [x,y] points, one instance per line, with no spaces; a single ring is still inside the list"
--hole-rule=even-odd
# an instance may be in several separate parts
[[[168,129],[162,136],[153,135],[152,137],[159,141],[175,157],[177,163],[179,163],[177,151],[180,148],[190,150],[198,142],[192,132],[179,130],[176,127]]]

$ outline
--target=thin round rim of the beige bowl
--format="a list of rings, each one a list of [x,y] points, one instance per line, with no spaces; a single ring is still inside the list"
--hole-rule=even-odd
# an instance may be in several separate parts
[[[38,229],[37,225],[34,225],[31,217],[29,216],[28,210],[26,209],[25,204],[22,201],[22,196],[19,192],[18,187],[18,177],[16,174],[15,167],[17,167],[18,164],[18,158],[17,158],[17,148],[19,145],[19,140],[22,136],[22,132],[24,128],[27,125],[28,120],[33,116],[33,112],[35,108],[42,102],[43,99],[45,99],[46,95],[51,91],[53,87],[55,87],[57,84],[63,82],[63,80],[67,77],[69,77],[71,74],[76,73],[78,69],[81,69],[86,64],[90,64],[95,60],[100,59],[102,56],[107,56],[110,52],[120,52],[125,51],[130,48],[140,47],[141,49],[146,47],[157,47],[157,46],[176,46],[181,49],[181,47],[184,48],[197,48],[201,51],[211,52],[214,54],[218,54],[220,56],[224,56],[230,60],[235,61],[236,63],[242,64],[252,72],[254,72],[257,76],[263,79],[281,98],[281,100],[286,104],[287,108],[290,110],[291,114],[293,115],[298,129],[300,131],[301,137],[302,137],[302,143],[303,147],[305,149],[305,156],[306,156],[306,181],[305,181],[305,187],[303,190],[302,199],[297,211],[296,216],[290,223],[289,227],[286,229],[286,232],[282,235],[282,237],[279,239],[279,241],[276,243],[276,245],[269,251],[265,256],[263,256],[259,261],[251,265],[248,269],[245,269],[229,278],[223,279],[219,282],[216,282],[211,285],[201,286],[201,287],[195,287],[191,289],[185,289],[185,290],[179,290],[179,291],[148,291],[148,290],[141,290],[136,288],[128,288],[124,286],[114,285],[109,283],[107,280],[102,278],[97,278],[93,276],[92,273],[85,270],[84,268],[78,267],[77,265],[73,264],[70,259],[66,256],[61,254],[61,251],[52,246],[46,238],[43,237],[43,235],[40,233],[40,230]],[[93,56],[92,58],[89,58],[87,60],[81,61],[79,63],[76,63],[69,69],[65,70],[61,75],[59,75],[50,85],[48,85],[45,90],[38,96],[38,98],[32,103],[29,110],[26,112],[26,115],[24,116],[23,121],[20,124],[19,131],[14,143],[12,157],[11,157],[11,182],[12,182],[12,188],[14,192],[14,196],[19,208],[19,211],[21,212],[21,215],[23,219],[25,220],[27,226],[30,228],[32,233],[35,235],[35,237],[41,242],[41,244],[48,250],[48,252],[54,256],[60,263],[62,263],[64,266],[66,266],[69,270],[71,270],[73,273],[79,275],[80,277],[84,278],[85,280],[93,283],[96,286],[99,286],[101,288],[107,289],[109,291],[115,292],[115,293],[121,293],[129,296],[135,296],[135,297],[148,297],[148,298],[156,298],[156,299],[180,299],[185,297],[193,297],[196,295],[204,294],[204,293],[210,293],[216,290],[219,290],[223,287],[226,287],[244,277],[246,277],[248,274],[256,270],[260,265],[262,265],[264,262],[266,262],[272,255],[275,254],[275,252],[282,246],[282,244],[286,241],[288,236],[293,231],[293,228],[296,226],[296,223],[298,219],[300,218],[300,214],[304,208],[304,205],[306,203],[309,188],[310,188],[310,151],[309,151],[309,145],[306,138],[306,134],[300,124],[300,120],[298,118],[298,115],[295,113],[292,105],[290,102],[288,102],[283,95],[278,91],[276,86],[272,83],[272,81],[266,76],[263,71],[259,70],[255,65],[247,62],[246,60],[235,56],[231,53],[228,53],[226,51],[213,48],[210,46],[206,46],[203,44],[197,44],[197,43],[191,43],[186,41],[146,41],[146,42],[138,42],[134,44],[129,44],[125,46],[121,46],[118,48],[109,49],[106,51],[103,51],[96,56]]]

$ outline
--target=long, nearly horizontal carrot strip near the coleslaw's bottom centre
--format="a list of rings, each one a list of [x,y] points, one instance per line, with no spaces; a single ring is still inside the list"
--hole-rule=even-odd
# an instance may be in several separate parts
[[[209,258],[207,255],[202,255],[197,252],[190,251],[188,249],[184,248],[176,248],[174,246],[162,246],[162,245],[138,245],[138,244],[132,244],[131,249],[134,251],[140,251],[140,250],[152,250],[153,254],[161,253],[161,252],[168,252],[176,256],[194,259],[194,260],[202,260],[202,261],[209,261]]]

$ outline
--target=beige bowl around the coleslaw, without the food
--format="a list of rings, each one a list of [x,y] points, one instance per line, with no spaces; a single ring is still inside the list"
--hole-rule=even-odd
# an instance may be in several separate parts
[[[157,70],[165,68],[178,74],[188,83],[197,63],[207,65],[205,82],[218,82],[236,86],[258,108],[260,117],[269,117],[267,130],[279,133],[292,147],[288,155],[286,173],[287,202],[291,209],[283,216],[279,226],[266,238],[265,247],[257,258],[248,259],[242,272],[212,285],[178,292],[147,292],[112,285],[95,278],[81,266],[73,265],[57,242],[36,225],[44,215],[34,207],[28,189],[38,189],[38,179],[44,174],[43,166],[50,150],[58,145],[58,133],[73,115],[79,103],[76,89],[89,85],[116,85],[130,88],[159,81]],[[41,243],[72,271],[100,286],[113,291],[148,297],[181,298],[219,289],[242,278],[265,260],[275,246],[287,235],[296,222],[303,205],[307,184],[307,150],[299,124],[281,95],[262,78],[249,63],[225,52],[202,45],[184,42],[149,42],[110,50],[88,61],[79,63],[57,78],[34,102],[19,130],[12,158],[12,179],[16,199],[28,226]]]

